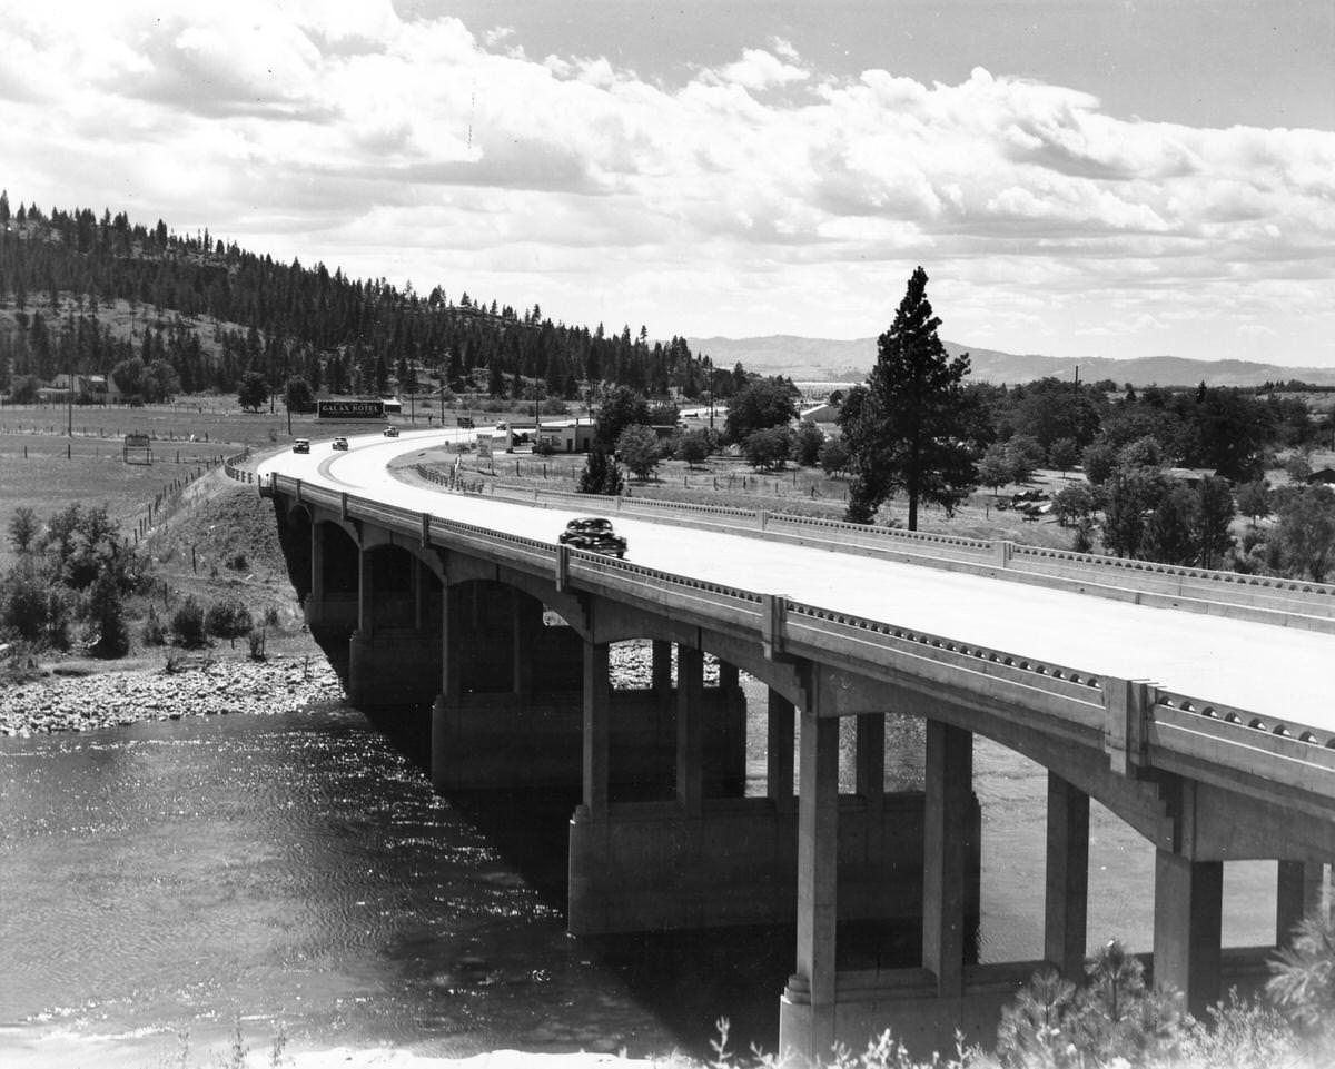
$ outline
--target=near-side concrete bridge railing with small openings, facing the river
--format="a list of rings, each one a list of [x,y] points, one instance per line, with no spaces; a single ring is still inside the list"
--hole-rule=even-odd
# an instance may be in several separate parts
[[[659,606],[682,621],[750,633],[776,653],[862,663],[873,678],[893,670],[989,702],[1011,699],[1027,717],[1037,714],[1095,733],[1091,737],[1101,735],[1104,749],[1120,746],[1127,737],[1127,725],[1116,723],[1125,709],[1115,698],[1124,681],[307,486],[284,475],[274,475],[264,490],[414,535],[423,545],[503,558],[507,565],[559,577],[565,585]],[[1240,778],[1259,775],[1311,790],[1323,799],[1335,797],[1335,733],[1157,687],[1148,687],[1148,694],[1137,714],[1144,722],[1133,733],[1148,737],[1164,753],[1206,759]]]

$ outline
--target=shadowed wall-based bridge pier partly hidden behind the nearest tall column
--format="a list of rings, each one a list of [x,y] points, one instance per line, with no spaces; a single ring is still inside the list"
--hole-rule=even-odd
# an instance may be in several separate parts
[[[678,646],[672,794],[637,797],[618,790],[626,751],[615,745],[615,693],[601,683],[605,654],[587,643],[583,663],[583,801],[570,822],[570,932],[769,925],[800,917],[804,831],[793,795],[794,706],[770,693],[766,793],[744,797],[733,782],[744,783],[741,767],[732,771],[745,758],[736,669],[721,663],[718,697],[710,702],[714,689],[702,685],[701,651]],[[729,727],[733,721],[736,729]],[[922,797],[884,791],[882,715],[862,726],[858,794],[841,797],[838,723],[818,722],[818,733],[832,731],[832,805],[838,814],[826,823],[837,842],[820,839],[820,849],[832,851],[838,867],[840,917],[913,922],[921,908]],[[805,835],[808,843],[816,841]]]

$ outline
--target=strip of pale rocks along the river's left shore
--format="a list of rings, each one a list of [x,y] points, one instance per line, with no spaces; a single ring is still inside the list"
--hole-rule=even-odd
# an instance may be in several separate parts
[[[52,675],[0,694],[0,734],[91,731],[223,713],[288,713],[342,697],[343,687],[323,658],[211,661],[174,673]]]

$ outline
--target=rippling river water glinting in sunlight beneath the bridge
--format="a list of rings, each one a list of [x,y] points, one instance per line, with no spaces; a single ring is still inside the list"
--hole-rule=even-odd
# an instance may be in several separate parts
[[[892,779],[920,775],[920,730],[890,733],[910,754]],[[1037,957],[1045,775],[981,739],[976,773],[981,956]],[[179,1064],[180,1033],[203,1062],[236,1022],[256,1049],[643,1057],[704,1056],[728,1016],[736,1048],[773,1049],[790,930],[566,936],[542,863],[510,850],[559,866],[559,805],[439,798],[342,705],[0,739],[0,1062]],[[1152,851],[1092,823],[1091,944],[1148,949]],[[1274,882],[1227,867],[1226,944],[1274,940]]]

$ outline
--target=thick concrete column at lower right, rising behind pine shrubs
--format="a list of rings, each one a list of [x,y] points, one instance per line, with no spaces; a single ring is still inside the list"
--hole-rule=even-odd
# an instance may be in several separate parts
[[[1203,1017],[1219,998],[1224,863],[1155,851],[1155,981]]]

